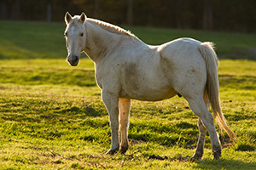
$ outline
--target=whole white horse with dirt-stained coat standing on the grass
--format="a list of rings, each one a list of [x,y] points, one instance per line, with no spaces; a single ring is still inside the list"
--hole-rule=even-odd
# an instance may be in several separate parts
[[[219,127],[234,139],[220,107],[218,58],[211,42],[180,38],[150,46],[118,26],[87,18],[84,13],[65,15],[67,61],[76,66],[81,52],[95,62],[96,82],[108,110],[112,140],[107,154],[128,149],[128,119],[131,99],[158,101],[183,96],[198,119],[200,136],[192,160],[201,159],[207,130],[213,159],[221,145],[208,111],[212,105]],[[121,141],[119,148],[119,130]]]

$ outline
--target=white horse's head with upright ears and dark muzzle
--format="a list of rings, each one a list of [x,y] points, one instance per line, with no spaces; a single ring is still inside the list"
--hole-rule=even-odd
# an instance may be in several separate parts
[[[80,53],[85,48],[85,28],[84,22],[86,15],[82,13],[80,16],[72,17],[68,12],[65,14],[67,28],[65,31],[67,45],[67,61],[70,65],[79,64]]]

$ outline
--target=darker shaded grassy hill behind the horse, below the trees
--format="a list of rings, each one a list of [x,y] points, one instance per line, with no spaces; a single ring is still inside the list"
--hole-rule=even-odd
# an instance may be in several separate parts
[[[220,58],[256,59],[256,35],[123,26],[148,44],[157,45],[179,37],[216,43]],[[64,59],[67,55],[62,23],[0,20],[0,59]]]

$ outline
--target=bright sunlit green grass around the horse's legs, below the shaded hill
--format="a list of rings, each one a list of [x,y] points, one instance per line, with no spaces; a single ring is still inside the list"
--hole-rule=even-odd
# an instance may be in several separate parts
[[[256,151],[249,151],[256,148],[254,61],[220,61],[222,106],[230,128],[238,136],[237,146],[232,146],[224,135],[223,158],[212,161],[207,136],[204,159],[195,162],[183,161],[193,155],[198,136],[197,118],[184,99],[133,101],[128,156],[104,156],[110,147],[108,113],[95,80],[90,78],[94,73],[89,59],[82,59],[76,68],[68,66],[64,59],[32,59],[23,63],[23,59],[10,59],[2,65],[3,61],[6,60],[0,65],[5,71],[0,86],[0,167],[3,169],[253,169],[256,166]],[[47,71],[42,74],[45,77],[48,74],[51,80],[26,78],[42,71],[45,62],[48,62]],[[229,71],[230,65],[239,66],[242,72]],[[23,72],[25,68],[32,71]],[[20,74],[12,77],[14,69],[20,70]],[[75,71],[79,78],[73,76]],[[230,77],[238,83],[232,85]],[[149,160],[148,156],[153,154],[169,159]]]

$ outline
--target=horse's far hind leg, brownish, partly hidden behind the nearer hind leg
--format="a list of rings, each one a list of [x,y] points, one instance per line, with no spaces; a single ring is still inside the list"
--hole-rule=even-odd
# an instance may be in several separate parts
[[[204,103],[209,107],[209,99],[207,96],[207,90],[204,92]],[[200,118],[198,118],[198,128],[200,131],[199,138],[197,141],[196,149],[195,149],[195,155],[191,157],[192,161],[195,160],[201,160],[203,154],[204,154],[204,145],[205,145],[205,139],[206,139],[206,134],[207,134],[207,128],[203,124]]]

